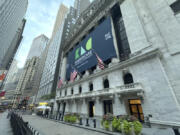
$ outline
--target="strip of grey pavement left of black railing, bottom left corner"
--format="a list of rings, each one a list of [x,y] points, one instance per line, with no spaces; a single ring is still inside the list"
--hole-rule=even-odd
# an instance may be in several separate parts
[[[0,113],[0,135],[13,135],[7,112]]]

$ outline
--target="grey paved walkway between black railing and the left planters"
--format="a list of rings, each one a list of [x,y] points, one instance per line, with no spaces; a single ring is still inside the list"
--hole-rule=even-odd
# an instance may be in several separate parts
[[[22,117],[24,121],[29,122],[29,124],[42,135],[107,135],[92,130],[61,124],[38,116],[23,115]]]

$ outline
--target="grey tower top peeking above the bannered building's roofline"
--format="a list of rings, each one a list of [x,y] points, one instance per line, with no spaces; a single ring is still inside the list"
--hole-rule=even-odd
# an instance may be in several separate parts
[[[75,0],[74,8],[77,9],[77,17],[91,4],[90,0]]]

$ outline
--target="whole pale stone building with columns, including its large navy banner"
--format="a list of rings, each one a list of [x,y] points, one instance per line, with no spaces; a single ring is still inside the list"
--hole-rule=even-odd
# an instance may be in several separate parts
[[[180,13],[174,2],[94,1],[62,46],[63,85],[54,110],[180,124]]]

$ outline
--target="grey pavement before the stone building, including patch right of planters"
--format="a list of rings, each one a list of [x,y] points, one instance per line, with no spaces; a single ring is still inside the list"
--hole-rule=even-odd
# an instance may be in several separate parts
[[[38,116],[23,115],[24,121],[39,131],[41,135],[120,135],[119,133],[97,132],[99,129],[89,130],[85,128],[79,128],[76,126],[70,126],[54,120],[48,120]],[[97,131],[95,131],[97,130]],[[143,128],[142,135],[175,135],[171,128]]]

